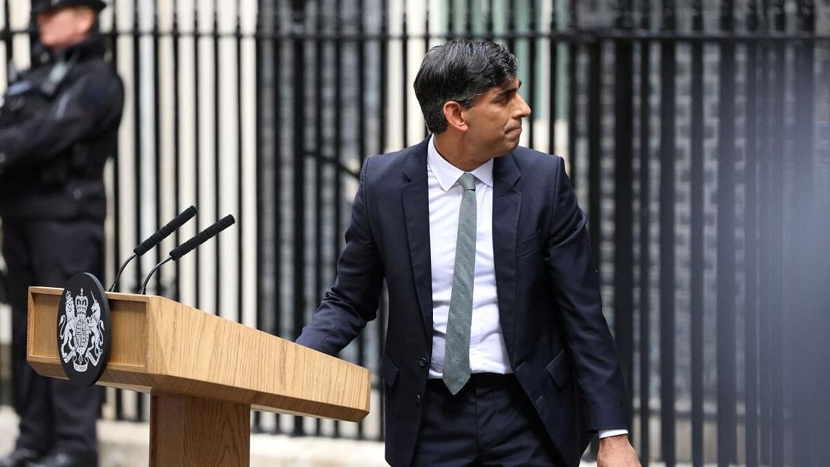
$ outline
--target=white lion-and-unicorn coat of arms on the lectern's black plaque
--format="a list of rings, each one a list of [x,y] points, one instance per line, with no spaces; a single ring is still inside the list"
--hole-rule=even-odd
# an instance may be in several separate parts
[[[104,353],[104,322],[101,321],[101,307],[92,296],[92,307],[84,289],[73,299],[66,290],[66,314],[58,322],[61,336],[61,358],[64,363],[72,362],[76,371],[84,372],[92,363],[97,366]]]

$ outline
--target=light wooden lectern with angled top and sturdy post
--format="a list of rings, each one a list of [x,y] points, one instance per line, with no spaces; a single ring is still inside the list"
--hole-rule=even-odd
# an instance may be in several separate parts
[[[66,378],[61,288],[29,288],[27,360]],[[150,465],[248,465],[251,408],[359,421],[369,370],[168,298],[107,293],[110,361],[96,383],[152,395]]]

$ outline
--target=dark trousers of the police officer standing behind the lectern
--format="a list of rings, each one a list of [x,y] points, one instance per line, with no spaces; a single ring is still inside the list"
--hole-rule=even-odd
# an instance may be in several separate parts
[[[18,448],[95,457],[99,387],[38,375],[26,361],[27,296],[32,285],[62,288],[76,273],[100,278],[104,226],[96,221],[3,219],[2,250],[12,305],[12,396]]]

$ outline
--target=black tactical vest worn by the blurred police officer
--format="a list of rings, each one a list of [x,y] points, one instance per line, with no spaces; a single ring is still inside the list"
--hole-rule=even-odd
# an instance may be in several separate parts
[[[117,118],[107,119],[114,125],[77,135],[69,147],[48,160],[2,168],[0,215],[4,220],[105,218],[103,172],[107,158],[115,155],[124,96],[120,78],[104,61],[104,51],[102,38],[91,37],[33,66],[8,86],[0,107],[0,131],[54,112],[62,94],[90,73],[97,74],[95,79],[99,82],[117,81],[121,92],[117,96],[100,96],[107,106],[105,111],[117,114]],[[37,129],[27,131],[31,134],[26,138],[42,137]]]

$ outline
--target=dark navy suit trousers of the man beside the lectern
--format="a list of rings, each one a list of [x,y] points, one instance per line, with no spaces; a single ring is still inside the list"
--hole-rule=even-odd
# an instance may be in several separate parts
[[[427,383],[413,465],[564,465],[514,375],[476,373],[452,396]]]

